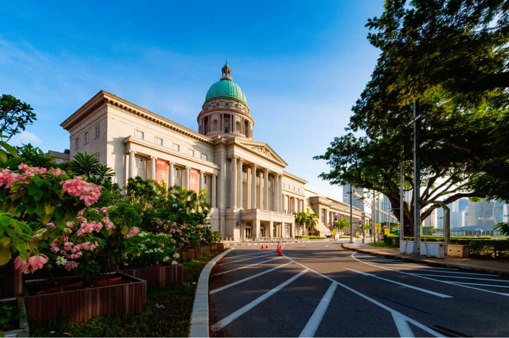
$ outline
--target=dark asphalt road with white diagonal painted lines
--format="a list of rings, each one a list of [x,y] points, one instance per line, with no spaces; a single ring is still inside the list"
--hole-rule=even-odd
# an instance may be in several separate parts
[[[236,246],[211,271],[211,336],[509,336],[509,280],[354,253]]]

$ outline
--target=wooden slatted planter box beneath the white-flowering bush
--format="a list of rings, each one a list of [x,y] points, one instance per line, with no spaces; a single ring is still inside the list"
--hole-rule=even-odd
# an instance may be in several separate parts
[[[145,279],[147,285],[165,286],[170,283],[182,283],[184,281],[184,267],[182,265],[165,265],[151,268],[122,270],[130,276]]]

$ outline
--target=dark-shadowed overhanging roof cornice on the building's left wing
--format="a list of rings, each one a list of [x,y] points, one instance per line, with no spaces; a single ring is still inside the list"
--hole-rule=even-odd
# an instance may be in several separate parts
[[[201,142],[204,142],[204,143],[207,143],[210,145],[213,144],[212,138],[210,138],[208,136],[202,135],[194,130],[191,130],[191,129],[184,127],[178,123],[168,120],[160,115],[155,114],[154,112],[152,112],[150,110],[147,110],[147,109],[142,108],[138,105],[135,105],[134,103],[124,100],[124,99],[122,99],[114,94],[108,93],[104,90],[101,90],[99,93],[97,93],[92,99],[90,99],[87,103],[82,105],[78,110],[76,110],[74,112],[74,114],[72,114],[69,118],[67,118],[60,125],[64,129],[69,130],[73,126],[75,126],[77,123],[79,123],[80,121],[85,119],[87,116],[92,114],[92,112],[96,111],[98,108],[100,108],[104,104],[109,104],[116,108],[120,108],[120,109],[128,112],[129,114],[141,117],[141,118],[146,119],[152,123],[158,124],[162,127],[176,131],[178,133],[181,133],[188,137],[194,138]]]

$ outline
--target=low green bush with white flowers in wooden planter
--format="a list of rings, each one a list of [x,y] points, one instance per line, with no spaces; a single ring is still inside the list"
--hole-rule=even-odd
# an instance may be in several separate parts
[[[140,232],[136,237],[129,238],[131,246],[137,249],[134,255],[125,255],[124,267],[150,267],[156,264],[168,263],[175,260],[177,245],[172,237],[160,233],[151,234]]]

